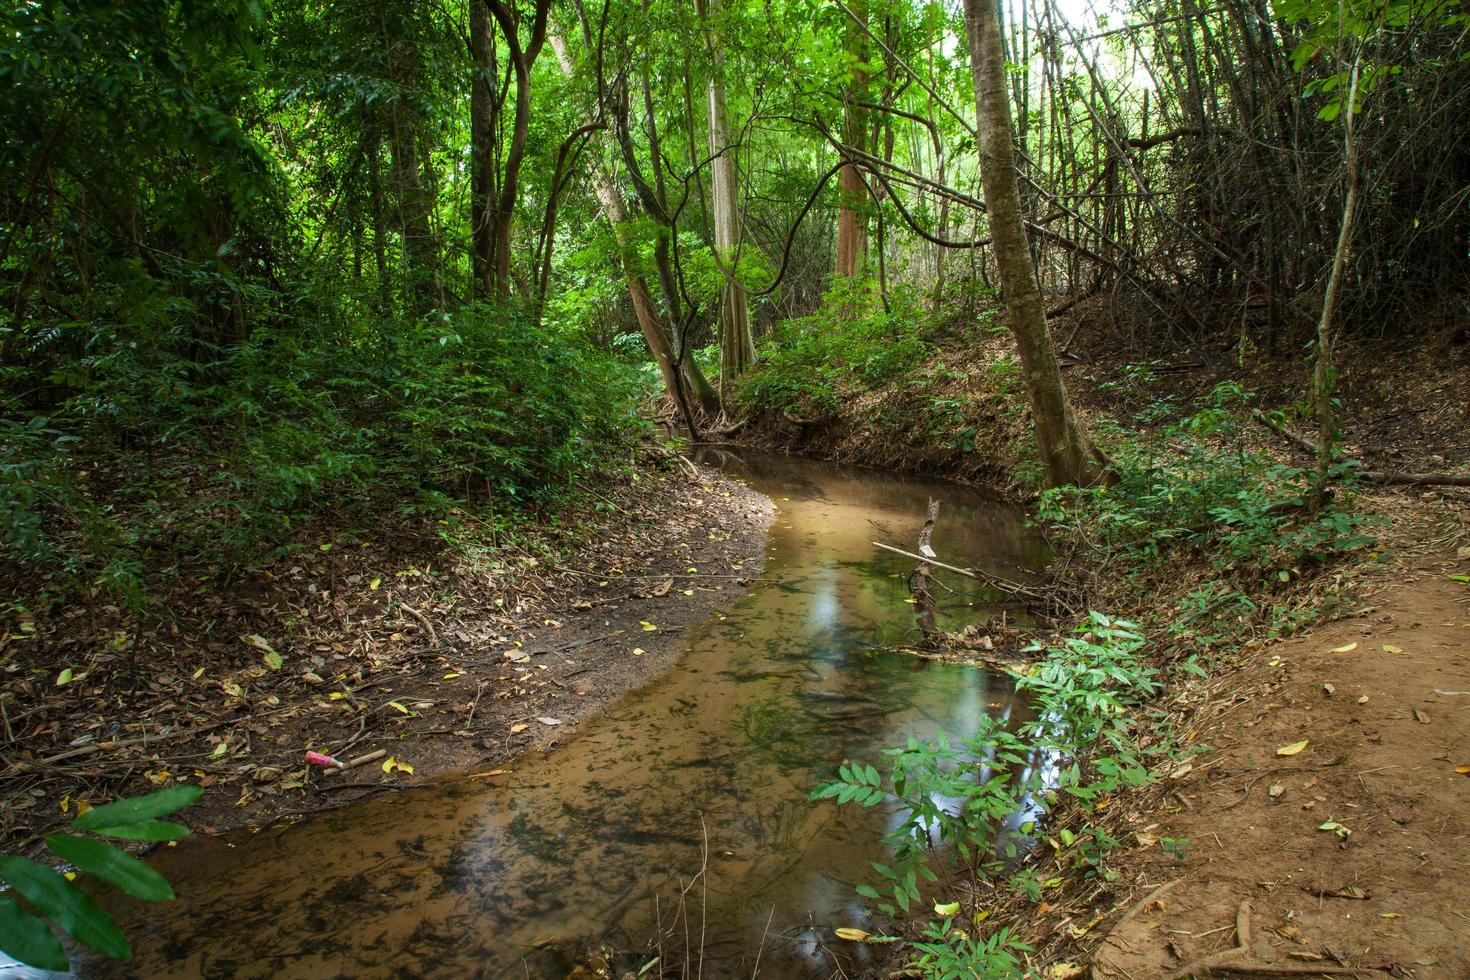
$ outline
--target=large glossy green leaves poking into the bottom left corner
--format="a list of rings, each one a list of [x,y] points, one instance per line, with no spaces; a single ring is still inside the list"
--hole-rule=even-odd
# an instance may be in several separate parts
[[[173,840],[188,833],[159,820],[188,807],[203,795],[198,786],[173,786],[147,796],[90,810],[72,820],[72,830],[128,840]],[[147,902],[173,899],[162,874],[106,840],[76,833],[53,833],[46,846],[78,873]],[[15,855],[0,855],[0,880],[15,896],[0,895],[0,951],[38,970],[65,971],[66,951],[51,932],[57,929],[79,943],[115,959],[131,959],[126,937],[87,892],[50,867]],[[24,901],[22,901],[24,899]]]

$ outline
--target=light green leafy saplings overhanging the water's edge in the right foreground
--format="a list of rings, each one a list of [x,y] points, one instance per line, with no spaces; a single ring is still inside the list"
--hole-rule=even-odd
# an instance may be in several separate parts
[[[1157,689],[1155,670],[1139,657],[1142,646],[1132,623],[1092,613],[1017,677],[1035,713],[1019,730],[983,716],[958,745],[941,732],[888,749],[886,786],[873,765],[844,764],[835,780],[816,788],[811,799],[895,810],[895,827],[885,835],[894,865],[875,862],[878,880],[860,884],[858,895],[886,915],[907,912],[920,902],[920,882],[938,880],[936,862],[961,861],[976,877],[1008,880],[1039,899],[1035,876],[1016,865],[1023,840],[1011,824],[1058,792],[1095,801],[1150,779],[1145,752],[1129,733],[1130,711]],[[1033,829],[1035,818],[1028,818],[1019,833]],[[1086,874],[1098,874],[1117,840],[1100,827],[1061,829],[1051,845],[1072,854]],[[925,937],[916,949],[926,977],[1013,976],[1007,956],[1023,949],[1003,932],[970,939],[951,929],[948,917],[928,923]]]

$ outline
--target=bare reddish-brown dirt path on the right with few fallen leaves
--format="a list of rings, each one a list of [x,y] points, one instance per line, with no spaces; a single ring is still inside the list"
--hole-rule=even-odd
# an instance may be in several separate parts
[[[1201,699],[1186,732],[1213,749],[1129,820],[1139,904],[1095,977],[1470,976],[1470,535],[1416,510],[1349,616]]]

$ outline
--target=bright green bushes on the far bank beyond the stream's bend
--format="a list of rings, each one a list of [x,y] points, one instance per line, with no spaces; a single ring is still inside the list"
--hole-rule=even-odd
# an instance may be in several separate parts
[[[885,311],[870,284],[839,284],[811,316],[782,320],[760,347],[760,367],[741,382],[751,411],[825,417],[853,394],[914,369],[929,354],[929,314],[900,291]]]

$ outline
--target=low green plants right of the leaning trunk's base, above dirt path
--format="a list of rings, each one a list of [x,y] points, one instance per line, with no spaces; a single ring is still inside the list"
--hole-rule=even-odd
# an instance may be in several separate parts
[[[1208,547],[1222,570],[1291,577],[1369,544],[1363,519],[1329,508],[1305,516],[1311,475],[1245,448],[1250,394],[1219,385],[1198,411],[1142,438],[1114,430],[1117,482],[1042,494],[1038,520],[1138,561],[1172,547]],[[1349,476],[1336,470],[1338,476]]]

